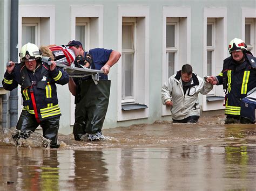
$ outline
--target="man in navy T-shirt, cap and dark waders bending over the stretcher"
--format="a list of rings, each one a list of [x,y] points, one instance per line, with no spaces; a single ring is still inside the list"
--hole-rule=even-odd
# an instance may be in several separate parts
[[[93,48],[86,52],[82,43],[77,40],[70,41],[67,46],[73,49],[76,56],[82,57],[78,60],[80,62],[78,65],[104,71],[104,74],[100,74],[97,84],[91,76],[83,77],[81,80],[70,79],[69,90],[75,96],[76,103],[74,138],[89,141],[104,140],[106,137],[102,134],[102,128],[109,105],[111,82],[107,74],[121,54],[104,48]]]

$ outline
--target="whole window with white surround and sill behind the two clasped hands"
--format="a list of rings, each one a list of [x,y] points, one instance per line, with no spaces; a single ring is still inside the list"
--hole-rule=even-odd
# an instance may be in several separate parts
[[[226,8],[204,8],[203,74],[200,77],[216,76],[223,69],[223,60],[228,56],[226,18]],[[213,86],[206,96],[200,96],[203,111],[223,109],[222,86]]]

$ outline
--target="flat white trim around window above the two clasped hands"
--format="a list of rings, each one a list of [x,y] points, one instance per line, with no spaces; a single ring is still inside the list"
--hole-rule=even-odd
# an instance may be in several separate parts
[[[221,32],[221,37],[223,38],[223,44],[219,45],[219,47],[222,47],[222,51],[220,53],[223,55],[223,58],[218,58],[221,61],[216,60],[215,61],[215,74],[212,75],[217,75],[221,72],[223,69],[223,60],[229,55],[227,51],[227,8],[204,8],[204,16],[203,16],[203,76],[206,76],[207,74],[207,18],[222,18],[223,19],[223,31]],[[217,20],[216,20],[216,31],[218,30],[217,26]],[[217,34],[217,32],[216,32]],[[219,49],[217,47],[218,45],[215,46],[216,51]],[[216,54],[215,54],[216,55]],[[202,76],[202,77],[203,77]],[[223,87],[222,86],[216,86],[216,95],[217,96],[224,96],[223,94]],[[206,96],[203,96],[203,105],[202,105],[203,111],[208,111],[208,110],[219,110],[219,109],[224,109],[223,107],[223,101],[214,101],[214,102],[207,102],[206,101]]]

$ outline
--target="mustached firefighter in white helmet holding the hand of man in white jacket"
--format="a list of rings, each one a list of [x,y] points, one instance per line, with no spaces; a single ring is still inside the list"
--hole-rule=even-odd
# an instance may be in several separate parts
[[[234,38],[228,45],[231,56],[224,60],[223,70],[207,81],[213,85],[223,84],[225,90],[225,124],[253,123],[241,114],[241,100],[256,87],[256,58],[247,51],[243,40]],[[255,98],[255,97],[254,97]],[[249,110],[248,110],[249,111]]]

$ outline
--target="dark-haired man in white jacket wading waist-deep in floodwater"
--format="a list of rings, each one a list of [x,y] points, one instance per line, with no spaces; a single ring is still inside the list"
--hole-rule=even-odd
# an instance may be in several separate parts
[[[193,73],[191,65],[183,65],[161,90],[163,104],[171,107],[173,123],[197,123],[200,116],[198,94],[206,95],[213,85]]]

